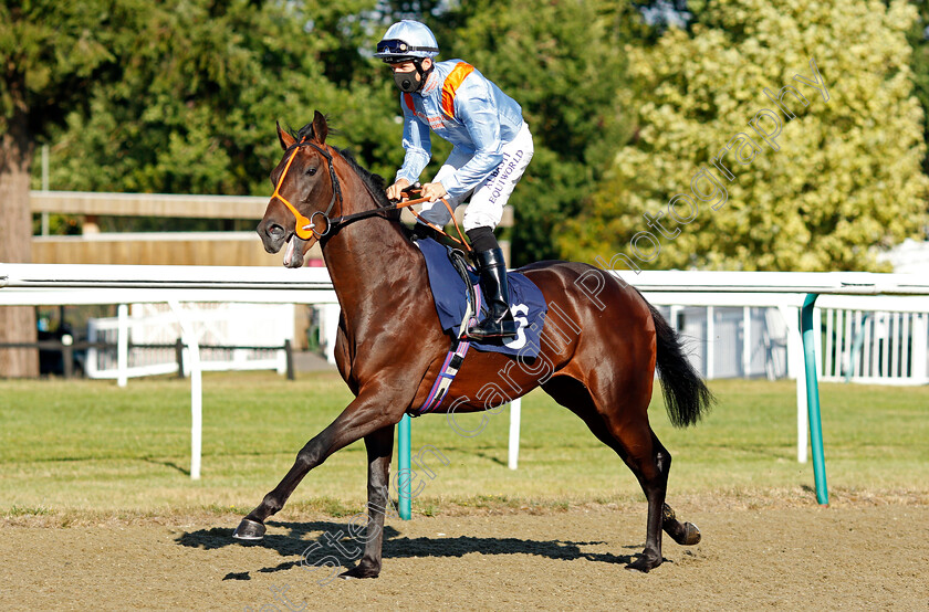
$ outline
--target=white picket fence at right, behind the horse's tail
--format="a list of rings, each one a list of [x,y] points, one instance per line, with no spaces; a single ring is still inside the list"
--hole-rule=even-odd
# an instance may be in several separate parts
[[[795,339],[790,326],[798,316],[796,307],[742,306],[743,295],[727,297],[731,306],[685,303],[660,308],[687,340],[693,367],[707,379],[796,378],[787,359],[787,347]],[[821,304],[814,310],[820,380],[929,383],[929,305],[925,299],[824,296]]]

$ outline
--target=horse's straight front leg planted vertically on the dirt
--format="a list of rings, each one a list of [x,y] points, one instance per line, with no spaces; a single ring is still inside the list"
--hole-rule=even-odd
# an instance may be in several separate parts
[[[341,578],[377,578],[384,545],[384,515],[390,503],[390,457],[394,454],[394,425],[365,436],[368,457],[368,520],[365,553],[357,566]],[[354,535],[354,534],[353,534]]]

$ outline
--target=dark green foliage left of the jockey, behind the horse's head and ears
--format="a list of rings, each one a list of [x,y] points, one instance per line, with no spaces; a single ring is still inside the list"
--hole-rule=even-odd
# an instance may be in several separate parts
[[[389,87],[358,49],[356,14],[373,2],[158,3],[138,43],[87,91],[56,139],[52,187],[88,191],[265,194],[280,157],[274,120],[331,115],[359,160],[398,162],[385,143]],[[396,136],[398,138],[398,136]],[[347,143],[345,141],[347,140]],[[87,160],[94,171],[87,171]]]

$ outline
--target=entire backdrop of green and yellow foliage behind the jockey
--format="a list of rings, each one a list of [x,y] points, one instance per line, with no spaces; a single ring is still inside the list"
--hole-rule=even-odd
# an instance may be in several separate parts
[[[389,22],[422,19],[440,59],[474,64],[532,128],[535,157],[512,198],[516,263],[608,261],[651,231],[661,251],[636,260],[641,267],[874,270],[873,247],[918,235],[926,1],[691,1],[686,30],[648,25],[641,4],[7,3],[0,52],[15,70],[0,83],[0,109],[2,122],[25,109],[31,135],[52,145],[52,189],[265,196],[280,158],[274,120],[299,128],[314,109],[341,130],[336,146],[390,179],[403,159],[400,107],[370,50]],[[828,101],[793,80],[812,78],[811,57]],[[763,88],[785,85],[810,104],[784,122],[780,150],[760,144],[723,181],[726,205],[704,205],[680,235],[649,229],[643,213],[688,192],[734,135],[755,137],[747,122],[772,107]],[[434,141],[427,173],[449,150]],[[60,231],[74,228],[63,221]]]

